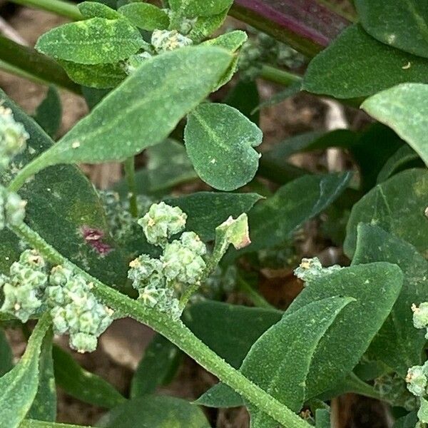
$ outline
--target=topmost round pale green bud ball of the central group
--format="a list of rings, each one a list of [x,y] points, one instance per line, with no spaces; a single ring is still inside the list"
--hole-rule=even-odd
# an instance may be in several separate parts
[[[164,202],[151,205],[148,213],[138,220],[149,243],[165,245],[168,238],[183,232],[187,215],[178,207]]]

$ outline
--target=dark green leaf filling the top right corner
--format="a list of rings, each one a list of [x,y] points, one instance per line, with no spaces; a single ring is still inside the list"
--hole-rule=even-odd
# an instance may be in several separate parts
[[[365,31],[384,44],[428,58],[428,4],[424,1],[355,0]]]

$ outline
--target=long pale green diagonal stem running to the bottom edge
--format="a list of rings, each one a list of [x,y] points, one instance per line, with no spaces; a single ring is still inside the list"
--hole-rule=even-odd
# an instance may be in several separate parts
[[[193,332],[188,330],[181,321],[173,321],[169,315],[156,309],[148,309],[141,305],[141,302],[132,300],[126,295],[122,295],[117,290],[104,285],[101,281],[89,275],[80,267],[73,265],[69,260],[58,253],[55,248],[46,243],[36,231],[29,228],[28,225],[9,226],[9,228],[26,240],[31,247],[41,253],[51,263],[58,265],[68,265],[80,275],[85,277],[88,282],[92,282],[93,293],[102,302],[116,311],[116,315],[123,317],[131,316],[139,322],[143,322],[149,327],[165,336],[170,342],[177,345],[181,350],[198,362],[209,372],[213,373],[220,381],[228,384],[235,389],[248,402],[252,403],[260,410],[268,414],[285,428],[310,428],[310,424],[297,416],[284,404],[281,404],[274,397],[267,394],[256,384],[247,379],[242,373],[228,365],[225,360],[220,358],[215,352],[201,342]]]

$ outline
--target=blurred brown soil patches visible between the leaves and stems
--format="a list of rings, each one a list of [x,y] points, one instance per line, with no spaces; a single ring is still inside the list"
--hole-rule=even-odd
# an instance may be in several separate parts
[[[347,5],[345,4],[344,7],[347,8]],[[8,32],[7,36],[14,37],[16,41],[29,46],[34,46],[38,37],[47,30],[66,22],[53,14],[6,4],[4,0],[0,0],[0,18],[3,20],[0,23],[3,30],[6,29]],[[280,89],[263,81],[258,82],[258,86],[260,95],[265,99]],[[1,71],[0,87],[28,113],[34,113],[47,90],[46,86]],[[61,101],[63,106],[61,134],[63,134],[85,116],[88,110],[83,98],[67,91],[61,91]],[[318,98],[300,94],[277,106],[263,110],[261,115],[261,128],[265,135],[263,145],[269,146],[273,142],[305,131],[356,128],[364,121],[365,118],[361,113],[345,112],[335,103],[327,104]],[[297,165],[310,169],[315,169],[318,163],[323,163],[330,169],[337,170],[343,168],[347,159],[342,153],[333,149],[327,155],[305,154],[297,156],[294,161]],[[108,187],[119,180],[122,174],[121,165],[117,163],[81,165],[81,167],[99,188]],[[316,248],[315,239],[311,238],[311,225],[308,225],[308,228],[305,253],[315,255],[318,248]],[[330,253],[327,251],[326,257],[335,259],[337,253],[340,253],[340,250],[333,248]],[[329,261],[335,263],[336,260]],[[295,278],[290,272],[282,272],[281,275],[267,275],[260,285],[260,290],[273,302],[289,304],[290,300],[299,292],[300,285],[296,284]],[[236,295],[232,296],[231,300],[239,303],[245,299]],[[8,335],[16,360],[18,360],[24,352],[24,338],[21,332],[16,330],[9,330]],[[87,355],[73,353],[73,357],[86,370],[99,374],[115,385],[123,394],[127,394],[133,370],[136,369],[151,337],[153,337],[153,332],[148,327],[139,325],[133,320],[118,320],[101,337],[101,346],[96,352]],[[58,339],[58,343],[66,348],[66,341]],[[160,392],[172,394],[175,397],[195,399],[215,382],[212,375],[202,370],[192,360],[186,359],[175,380],[167,388],[160,389]],[[336,428],[384,428],[389,426],[382,405],[370,399],[348,395],[337,399],[332,408],[335,410]],[[248,414],[245,409],[220,411],[208,409],[207,412],[215,427],[248,427]],[[58,422],[95,424],[102,413],[103,409],[83,404],[68,397],[61,390],[58,391]]]

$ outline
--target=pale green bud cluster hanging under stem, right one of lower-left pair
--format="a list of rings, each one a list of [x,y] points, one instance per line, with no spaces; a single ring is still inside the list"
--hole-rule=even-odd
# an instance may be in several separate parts
[[[98,337],[113,321],[113,311],[96,300],[92,287],[81,275],[56,266],[45,291],[54,332],[70,335],[70,346],[78,352],[96,350]]]

